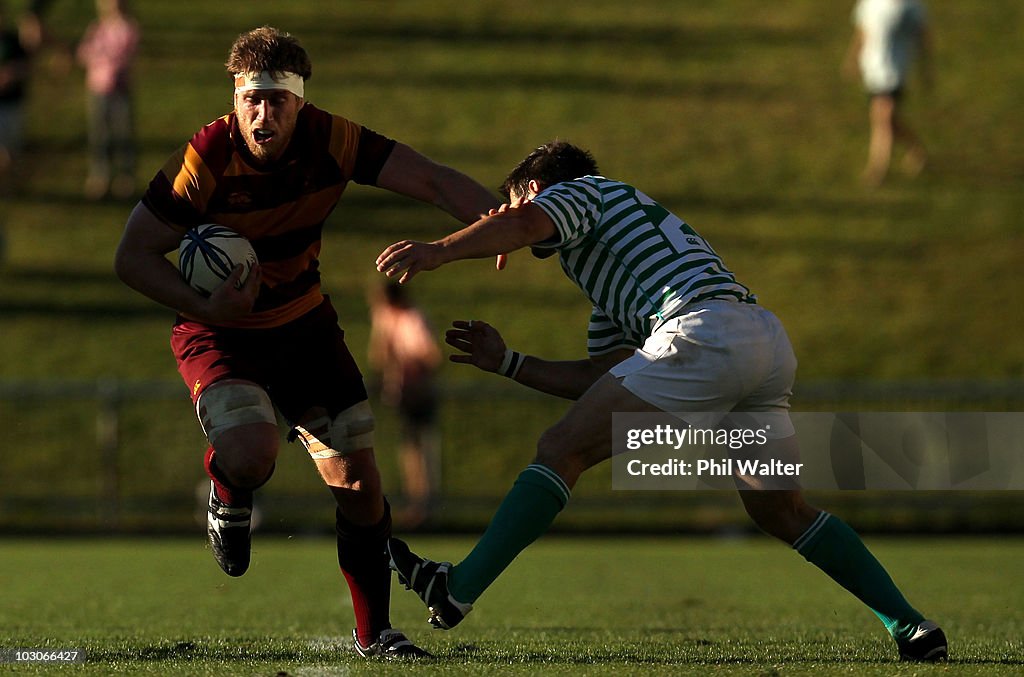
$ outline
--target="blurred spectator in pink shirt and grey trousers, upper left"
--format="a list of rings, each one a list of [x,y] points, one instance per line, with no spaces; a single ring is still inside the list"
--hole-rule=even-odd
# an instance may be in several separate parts
[[[78,46],[85,67],[89,116],[89,175],[85,196],[118,199],[135,192],[131,67],[139,30],[125,0],[96,0],[98,18]]]

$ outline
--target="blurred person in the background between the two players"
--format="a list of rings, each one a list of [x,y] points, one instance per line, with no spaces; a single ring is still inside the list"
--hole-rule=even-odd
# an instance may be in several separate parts
[[[387,283],[371,297],[370,366],[380,376],[381,401],[394,407],[401,423],[398,461],[407,528],[429,517],[437,484],[435,377],[441,353],[423,313],[406,288]]]

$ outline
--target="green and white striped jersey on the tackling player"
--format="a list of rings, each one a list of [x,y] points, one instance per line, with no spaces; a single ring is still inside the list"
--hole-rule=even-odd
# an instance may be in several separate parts
[[[637,188],[603,176],[557,183],[537,196],[556,235],[535,245],[558,252],[562,269],[594,304],[591,355],[643,345],[690,303],[755,303],[711,245]]]

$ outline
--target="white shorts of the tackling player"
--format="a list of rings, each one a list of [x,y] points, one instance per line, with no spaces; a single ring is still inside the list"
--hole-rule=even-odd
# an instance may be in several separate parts
[[[719,299],[688,306],[610,370],[627,390],[664,412],[758,413],[773,419],[775,438],[794,434],[788,409],[796,372],[778,318],[753,303]]]

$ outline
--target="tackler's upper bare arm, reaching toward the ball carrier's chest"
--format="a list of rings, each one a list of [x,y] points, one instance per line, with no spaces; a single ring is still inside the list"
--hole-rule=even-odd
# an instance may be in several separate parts
[[[406,284],[422,270],[466,258],[508,254],[555,235],[555,223],[540,207],[505,207],[462,230],[434,242],[397,242],[377,257],[377,269]]]

